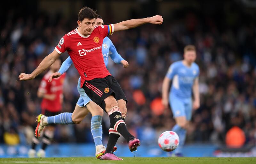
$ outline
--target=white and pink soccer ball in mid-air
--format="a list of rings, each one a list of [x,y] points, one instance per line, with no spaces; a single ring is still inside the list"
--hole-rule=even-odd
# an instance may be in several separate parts
[[[178,134],[172,131],[163,132],[158,138],[159,147],[166,152],[175,150],[179,143],[180,138]]]

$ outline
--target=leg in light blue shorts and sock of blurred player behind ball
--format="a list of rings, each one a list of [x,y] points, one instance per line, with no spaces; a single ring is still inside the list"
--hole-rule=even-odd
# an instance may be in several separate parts
[[[176,125],[173,126],[172,131],[176,132],[180,138],[179,146],[174,150],[175,156],[182,156],[182,148],[186,139],[186,129],[188,121],[186,119],[185,103],[183,99],[177,98],[174,95],[169,96],[173,117],[175,118]]]

